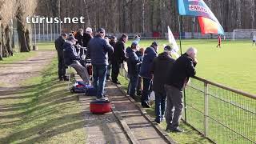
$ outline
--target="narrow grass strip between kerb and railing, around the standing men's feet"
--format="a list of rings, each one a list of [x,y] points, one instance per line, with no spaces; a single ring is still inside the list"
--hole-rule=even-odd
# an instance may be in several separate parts
[[[126,78],[122,76],[118,76],[118,80],[122,84],[122,89],[127,90],[128,81]],[[139,98],[136,98],[136,102],[138,102]],[[150,115],[150,117],[154,118],[154,105],[150,109],[145,109],[146,113]],[[197,131],[193,130],[190,126],[187,126],[185,123],[181,122],[181,128],[185,130],[184,133],[168,133],[170,138],[174,139],[174,141],[178,143],[210,143],[206,138],[203,138],[201,134],[198,134]],[[166,129],[166,122],[162,122],[160,127],[165,130]]]

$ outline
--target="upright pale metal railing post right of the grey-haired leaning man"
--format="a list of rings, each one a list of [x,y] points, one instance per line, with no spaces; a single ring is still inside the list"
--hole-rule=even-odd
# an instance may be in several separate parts
[[[204,87],[205,87],[205,90],[204,90],[204,99],[205,99],[205,105],[204,105],[204,135],[205,137],[208,136],[208,83],[205,82],[204,83]]]

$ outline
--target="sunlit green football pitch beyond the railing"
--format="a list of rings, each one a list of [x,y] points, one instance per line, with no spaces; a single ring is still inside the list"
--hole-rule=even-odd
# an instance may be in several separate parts
[[[139,46],[146,49],[153,41],[142,39]],[[155,41],[160,44],[158,53],[162,52],[164,44],[169,43],[166,40]],[[177,44],[179,46],[179,41]],[[182,40],[182,53],[190,46],[198,49],[198,77],[256,94],[256,46],[252,46],[250,40],[223,40],[221,48],[216,48],[217,44],[217,39]]]

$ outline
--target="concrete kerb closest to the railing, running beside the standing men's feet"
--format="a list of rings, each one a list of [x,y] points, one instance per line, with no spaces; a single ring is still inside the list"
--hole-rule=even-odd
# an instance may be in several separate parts
[[[168,134],[166,133],[165,130],[162,130],[162,128],[160,126],[158,126],[158,124],[156,122],[154,122],[154,119],[151,118],[150,115],[146,113],[146,110],[144,110],[142,108],[142,106],[138,104],[138,102],[135,102],[133,98],[130,98],[129,96],[127,96],[125,90],[122,90],[121,85],[116,85],[116,86],[118,86],[118,89],[122,91],[122,94],[126,95],[126,98],[128,98],[130,100],[130,102],[134,103],[134,105],[138,108],[138,110],[141,112],[141,114],[144,116],[144,118],[146,118],[146,120],[151,123],[151,125],[154,127],[154,129],[158,132],[158,134],[161,135],[161,137],[166,142],[168,142],[170,144],[176,144],[177,143],[168,136]]]

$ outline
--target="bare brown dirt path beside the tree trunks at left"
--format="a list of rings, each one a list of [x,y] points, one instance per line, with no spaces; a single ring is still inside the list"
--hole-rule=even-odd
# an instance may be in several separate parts
[[[38,54],[25,61],[0,65],[0,95],[5,90],[19,88],[19,83],[40,74],[54,58],[54,51],[38,51]]]

